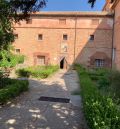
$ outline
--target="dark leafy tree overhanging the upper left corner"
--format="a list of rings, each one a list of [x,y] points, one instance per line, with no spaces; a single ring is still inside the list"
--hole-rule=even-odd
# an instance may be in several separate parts
[[[27,19],[45,5],[46,0],[0,0],[0,50],[14,41],[13,22]]]

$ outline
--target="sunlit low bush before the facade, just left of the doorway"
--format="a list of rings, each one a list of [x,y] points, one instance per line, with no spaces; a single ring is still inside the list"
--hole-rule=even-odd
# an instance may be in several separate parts
[[[59,69],[58,66],[36,66],[16,70],[19,77],[47,78]]]

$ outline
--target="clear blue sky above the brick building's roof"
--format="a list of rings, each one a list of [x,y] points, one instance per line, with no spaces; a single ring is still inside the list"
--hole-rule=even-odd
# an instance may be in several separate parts
[[[88,0],[47,0],[47,6],[42,11],[101,11],[105,0],[97,0],[91,8]]]

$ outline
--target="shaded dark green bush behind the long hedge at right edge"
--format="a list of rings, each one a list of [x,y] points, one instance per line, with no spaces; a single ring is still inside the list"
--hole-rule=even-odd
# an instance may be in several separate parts
[[[97,70],[95,73],[97,74],[97,76],[95,76],[97,77],[96,82],[101,91],[109,93],[113,97],[120,98],[120,72],[116,70],[99,69],[99,72]],[[91,79],[93,79],[94,74],[89,73],[89,75]]]

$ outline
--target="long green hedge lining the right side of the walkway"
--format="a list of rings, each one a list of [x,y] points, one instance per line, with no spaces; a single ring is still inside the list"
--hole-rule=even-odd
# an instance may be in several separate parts
[[[100,94],[88,71],[80,65],[78,71],[84,112],[90,129],[120,129],[120,108],[112,98]]]

